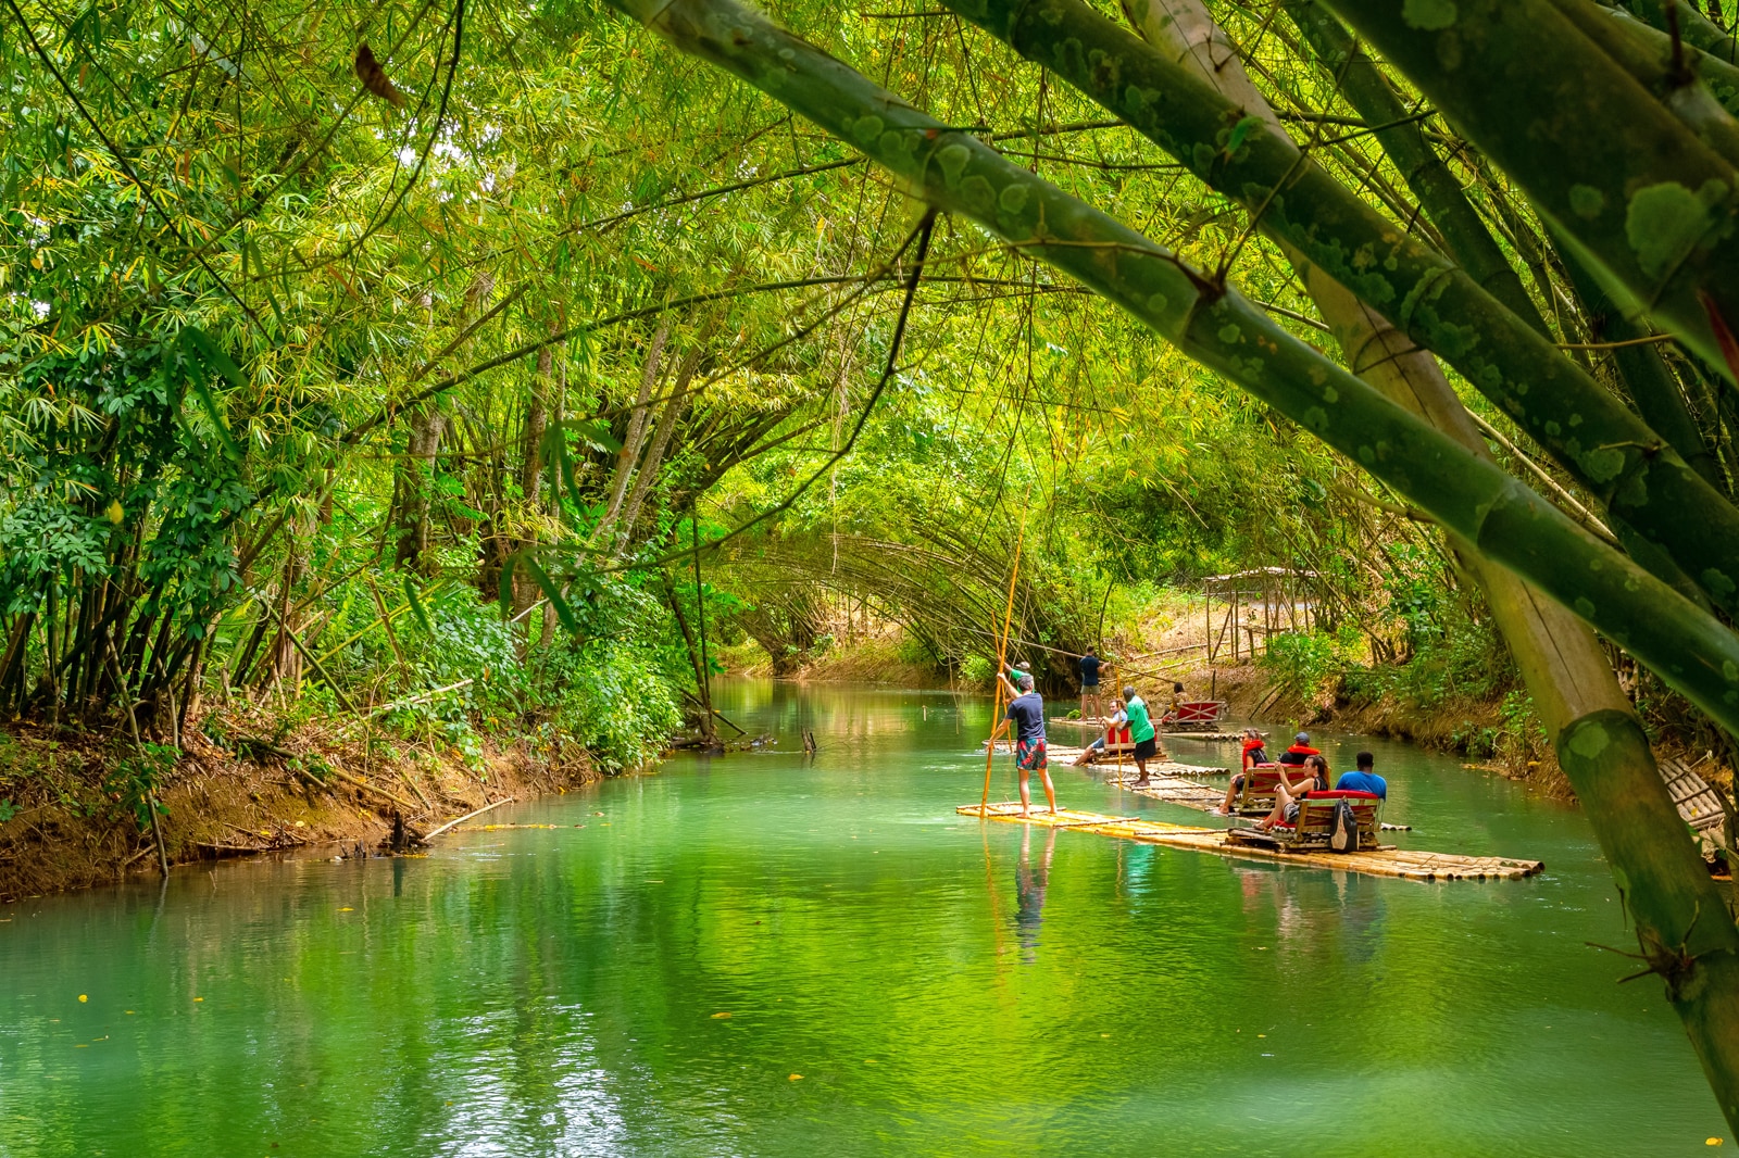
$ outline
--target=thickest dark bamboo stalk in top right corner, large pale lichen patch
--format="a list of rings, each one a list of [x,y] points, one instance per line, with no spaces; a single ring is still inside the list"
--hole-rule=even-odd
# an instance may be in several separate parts
[[[1393,0],[1323,3],[1520,184],[1626,306],[1739,381],[1723,356],[1739,332],[1729,160],[1551,0],[1456,0],[1426,14]]]

